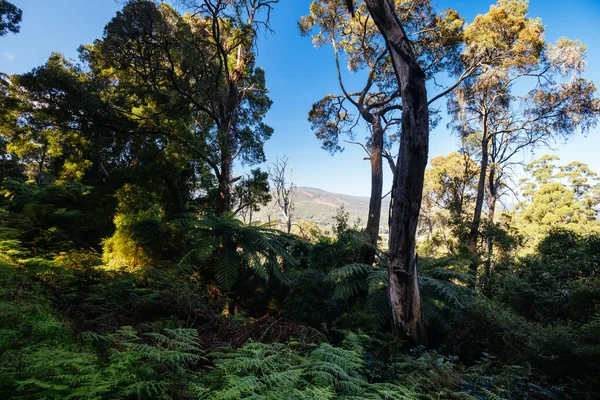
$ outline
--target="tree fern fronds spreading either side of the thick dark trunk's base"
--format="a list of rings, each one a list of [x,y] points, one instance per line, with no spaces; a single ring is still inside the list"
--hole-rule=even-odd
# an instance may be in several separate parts
[[[425,259],[419,262],[419,286],[423,318],[427,325],[448,307],[461,308],[476,292],[470,288],[473,276],[461,269],[468,260],[456,257]],[[365,311],[384,326],[391,318],[388,301],[388,275],[385,254],[379,253],[375,265],[353,263],[332,270],[328,280],[335,285],[334,298],[365,298]]]

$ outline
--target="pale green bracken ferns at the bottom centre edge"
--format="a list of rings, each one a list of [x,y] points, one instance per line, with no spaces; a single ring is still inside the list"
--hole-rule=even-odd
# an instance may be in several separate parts
[[[417,399],[405,387],[370,383],[362,347],[321,343],[308,354],[281,344],[249,342],[212,353],[214,367],[195,385],[199,398],[220,399]]]

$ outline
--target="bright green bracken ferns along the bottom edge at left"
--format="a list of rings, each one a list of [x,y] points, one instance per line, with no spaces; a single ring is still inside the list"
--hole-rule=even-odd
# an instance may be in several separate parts
[[[204,360],[191,329],[140,335],[123,327],[81,338],[87,346],[55,340],[22,351],[18,372],[0,368],[14,398],[189,398],[193,371]]]

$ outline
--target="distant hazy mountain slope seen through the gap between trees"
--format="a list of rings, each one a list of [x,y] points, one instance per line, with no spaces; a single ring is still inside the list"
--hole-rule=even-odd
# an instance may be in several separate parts
[[[333,217],[341,206],[350,214],[349,223],[352,225],[360,219],[360,226],[367,223],[369,210],[369,198],[361,196],[349,196],[346,194],[331,193],[322,189],[310,187],[298,187],[294,194],[294,221],[313,221],[324,230],[329,230],[334,223]],[[388,229],[389,198],[383,200],[381,228],[382,234]],[[281,220],[282,215],[275,201],[269,206],[263,207],[254,214],[254,220],[275,221]]]

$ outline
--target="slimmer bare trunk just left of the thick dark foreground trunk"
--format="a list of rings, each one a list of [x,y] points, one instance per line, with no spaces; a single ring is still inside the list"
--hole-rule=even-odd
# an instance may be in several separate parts
[[[371,140],[371,199],[369,201],[369,216],[365,229],[365,242],[361,250],[360,262],[373,264],[375,250],[379,240],[379,223],[381,221],[381,196],[383,195],[383,127],[379,116],[372,124]]]

